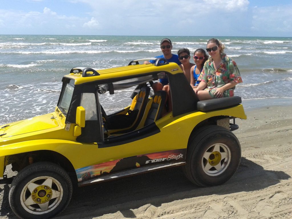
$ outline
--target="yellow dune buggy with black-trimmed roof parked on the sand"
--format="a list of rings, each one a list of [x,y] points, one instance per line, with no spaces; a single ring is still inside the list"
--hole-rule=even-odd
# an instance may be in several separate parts
[[[168,79],[171,97],[153,91],[161,78]],[[101,104],[125,89],[133,90],[128,106],[110,112]],[[199,101],[180,67],[162,58],[150,65],[76,67],[62,79],[54,112],[1,125],[0,183],[11,184],[13,212],[29,219],[60,213],[73,184],[161,168],[182,166],[194,184],[220,185],[241,158],[235,118],[246,119],[240,97]],[[4,175],[8,165],[18,174]]]

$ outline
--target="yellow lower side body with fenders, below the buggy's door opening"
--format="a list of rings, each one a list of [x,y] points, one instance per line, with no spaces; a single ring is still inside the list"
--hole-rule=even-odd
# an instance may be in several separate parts
[[[172,113],[169,113],[156,122],[160,129],[159,133],[127,144],[103,148],[98,148],[96,143],[76,142],[76,137],[73,136],[74,124],[71,124],[69,131],[66,131],[65,124],[57,118],[60,124],[58,127],[7,137],[7,141],[1,142],[0,177],[3,175],[1,169],[4,165],[4,156],[30,151],[58,152],[69,159],[76,170],[140,154],[184,149],[187,148],[193,128],[199,122],[220,115],[246,119],[242,105],[211,112],[195,111],[178,117],[172,117]]]

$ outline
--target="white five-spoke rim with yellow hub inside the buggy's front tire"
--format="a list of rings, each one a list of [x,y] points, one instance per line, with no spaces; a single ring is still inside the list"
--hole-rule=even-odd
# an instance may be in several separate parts
[[[22,188],[20,203],[29,213],[45,214],[60,204],[63,194],[63,187],[58,180],[51,176],[39,176]]]

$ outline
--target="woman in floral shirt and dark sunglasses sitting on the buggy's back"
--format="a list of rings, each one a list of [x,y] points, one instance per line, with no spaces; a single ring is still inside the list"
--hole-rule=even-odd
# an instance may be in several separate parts
[[[205,62],[198,78],[200,84],[194,88],[199,100],[231,97],[235,85],[242,82],[236,63],[224,53],[224,48],[218,39],[207,42],[206,50],[211,58]]]

